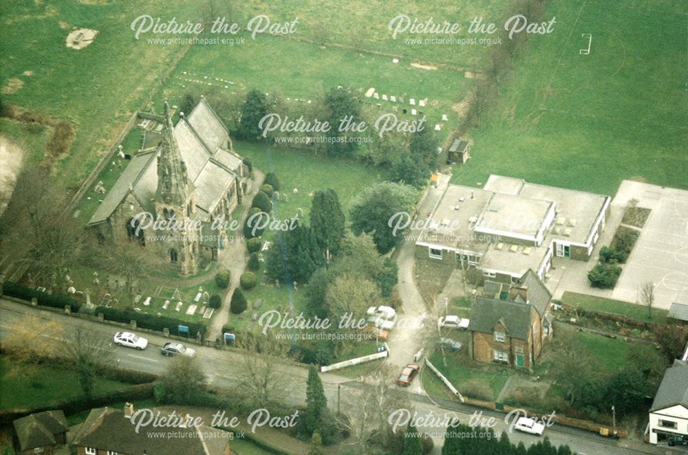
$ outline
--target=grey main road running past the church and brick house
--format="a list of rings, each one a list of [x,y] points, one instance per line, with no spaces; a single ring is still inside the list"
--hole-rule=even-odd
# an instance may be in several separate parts
[[[0,298],[0,342],[5,339],[8,333],[21,330],[21,321],[25,320],[25,318],[28,318],[30,315],[61,324],[65,332],[70,330],[74,331],[77,327],[82,326],[89,331],[102,334],[107,340],[111,340],[114,333],[122,330],[110,324],[81,320],[73,316],[38,309],[12,300]],[[129,368],[145,373],[163,373],[170,359],[162,356],[159,348],[168,341],[168,339],[149,333],[142,335],[149,340],[149,347],[144,351],[114,346],[118,365],[122,368]],[[190,345],[193,346],[193,344]],[[193,346],[193,348],[196,349],[197,357],[202,361],[206,375],[208,375],[208,382],[211,386],[230,389],[237,385],[236,373],[237,369],[241,368],[241,353],[233,350],[218,350],[204,346]],[[287,399],[292,406],[303,405],[305,403],[305,383],[308,378],[308,368],[292,362],[285,362],[283,366],[286,368],[288,376],[290,377],[290,383],[288,384],[290,393]],[[425,370],[423,370],[423,372],[424,371]],[[337,408],[338,395],[341,395],[341,404],[345,406],[345,403],[348,401],[347,398],[358,394],[361,388],[365,387],[365,384],[332,373],[323,373],[321,378],[323,380],[323,387],[325,388],[325,395],[327,396],[327,403],[334,411],[336,411]],[[420,384],[418,379],[417,381],[418,384]],[[340,388],[341,390],[339,390]],[[412,390],[409,390],[409,392],[412,392]],[[452,415],[456,415],[462,419],[462,421],[467,422],[471,414],[476,411],[482,411],[484,417],[495,418],[496,425],[494,429],[496,432],[501,432],[506,428],[504,424],[504,414],[499,412],[482,410],[481,408],[475,408],[453,401],[435,403],[427,397],[416,393],[409,393],[409,397],[418,415],[431,413],[434,416],[444,416],[447,412],[451,412],[455,413]],[[420,425],[419,430],[433,434],[433,439],[435,439],[436,442],[435,452],[439,454],[444,428],[433,428],[429,425]],[[675,455],[682,453],[668,447],[653,447],[636,441],[611,441],[590,432],[568,428],[562,425],[554,425],[552,428],[548,428],[546,434],[550,438],[552,444],[568,444],[573,450],[586,455],[600,453],[610,455]],[[509,437],[513,441],[523,441],[526,446],[539,440],[536,436],[519,433],[510,434]]]

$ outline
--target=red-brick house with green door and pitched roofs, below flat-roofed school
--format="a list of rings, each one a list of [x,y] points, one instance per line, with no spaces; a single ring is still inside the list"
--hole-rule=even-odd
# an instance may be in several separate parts
[[[532,370],[553,334],[550,291],[528,270],[513,284],[485,282],[483,294],[471,308],[471,358]]]

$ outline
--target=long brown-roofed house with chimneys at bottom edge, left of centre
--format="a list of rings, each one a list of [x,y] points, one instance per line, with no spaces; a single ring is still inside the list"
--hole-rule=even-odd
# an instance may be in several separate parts
[[[157,413],[158,410],[153,409]],[[77,455],[229,455],[231,434],[206,425],[155,427],[134,425],[133,406],[97,408],[74,436]],[[166,415],[166,414],[163,414]]]

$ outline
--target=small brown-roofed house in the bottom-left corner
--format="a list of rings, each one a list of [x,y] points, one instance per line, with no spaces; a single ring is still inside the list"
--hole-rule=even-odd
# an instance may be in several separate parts
[[[17,433],[17,452],[25,454],[53,453],[56,445],[67,443],[67,419],[61,410],[30,414],[14,421]]]

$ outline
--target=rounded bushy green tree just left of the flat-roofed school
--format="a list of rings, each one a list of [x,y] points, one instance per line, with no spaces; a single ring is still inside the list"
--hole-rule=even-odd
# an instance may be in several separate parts
[[[403,241],[403,231],[390,227],[394,214],[408,212],[416,201],[413,188],[385,181],[363,190],[351,208],[352,230],[371,234],[380,254],[387,254]]]

